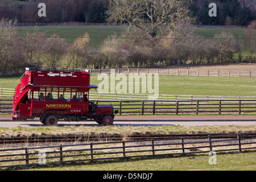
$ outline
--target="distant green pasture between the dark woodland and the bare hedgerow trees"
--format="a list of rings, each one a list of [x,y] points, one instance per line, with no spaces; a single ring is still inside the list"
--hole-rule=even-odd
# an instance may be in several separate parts
[[[33,32],[34,27],[17,27],[20,35],[26,35],[26,32]],[[90,35],[89,47],[100,47],[104,38],[112,35],[114,32],[120,35],[122,30],[127,27],[121,26],[40,26],[38,27],[39,32],[46,32],[47,36],[61,36],[68,43],[72,43],[76,37],[82,36],[85,32]],[[197,35],[201,35],[204,38],[210,39],[214,37],[214,34],[218,32],[231,32],[236,38],[244,39],[243,32],[245,29],[226,29],[226,28],[193,28],[193,31]],[[244,41],[244,40],[243,40]],[[243,47],[243,53],[249,53],[246,46]]]

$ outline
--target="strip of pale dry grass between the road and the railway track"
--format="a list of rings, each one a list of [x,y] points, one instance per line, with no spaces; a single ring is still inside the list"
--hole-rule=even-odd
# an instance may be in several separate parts
[[[61,130],[60,130],[61,128]],[[2,137],[31,137],[34,136],[67,136],[67,135],[127,135],[139,134],[203,134],[203,133],[255,133],[255,125],[226,125],[226,126],[45,126],[45,127],[0,127]]]

